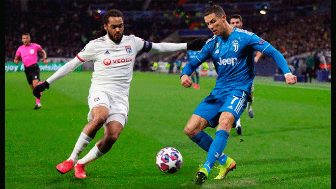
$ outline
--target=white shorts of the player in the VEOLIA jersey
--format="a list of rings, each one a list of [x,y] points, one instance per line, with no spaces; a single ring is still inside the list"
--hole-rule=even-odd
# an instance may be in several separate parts
[[[108,118],[103,126],[111,121],[120,122],[123,127],[127,123],[129,103],[128,96],[121,94],[95,91],[88,96],[89,114],[88,121],[92,121],[92,109],[97,105],[103,105],[108,109]]]

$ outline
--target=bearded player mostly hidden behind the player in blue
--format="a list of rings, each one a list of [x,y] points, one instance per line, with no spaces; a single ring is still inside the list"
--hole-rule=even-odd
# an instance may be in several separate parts
[[[242,18],[241,18],[241,16],[239,14],[234,14],[234,15],[230,16],[229,17],[229,23],[233,27],[237,27],[239,29],[243,28]],[[257,63],[259,61],[259,59],[263,56],[263,53],[261,53],[259,51],[256,51],[256,52],[257,53],[256,53],[256,57],[255,57],[255,60],[254,60],[255,63]],[[251,101],[248,101],[247,102],[247,106],[246,106],[247,115],[250,118],[254,117],[254,112],[253,112],[253,109],[251,107],[251,105],[253,103],[253,100],[254,100],[254,96],[253,96],[254,89],[255,89],[255,85],[252,84],[252,87],[251,87]],[[243,130],[242,130],[242,127],[241,127],[241,124],[240,124],[240,118],[237,121],[236,132],[239,135],[243,133]]]

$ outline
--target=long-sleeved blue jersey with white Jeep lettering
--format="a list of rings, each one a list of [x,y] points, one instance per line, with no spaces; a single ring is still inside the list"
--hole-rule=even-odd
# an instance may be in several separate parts
[[[183,68],[181,76],[191,75],[193,69],[212,58],[218,74],[212,95],[232,89],[243,90],[250,95],[255,78],[255,50],[272,57],[284,74],[290,73],[285,58],[272,45],[254,33],[234,27],[227,38],[213,36],[209,39],[200,53]]]

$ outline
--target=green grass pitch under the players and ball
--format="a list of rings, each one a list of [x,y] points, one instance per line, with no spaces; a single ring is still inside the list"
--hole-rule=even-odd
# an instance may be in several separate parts
[[[53,72],[42,72],[41,78]],[[87,96],[92,72],[73,72],[42,94],[42,108],[23,72],[5,73],[6,188],[330,188],[330,84],[273,82],[256,77],[255,117],[241,116],[243,135],[232,129],[225,153],[237,169],[201,186],[194,184],[207,153],[191,142],[183,128],[195,107],[213,89],[214,77],[201,77],[200,90],[185,89],[179,75],[134,72],[130,111],[119,140],[100,159],[86,166],[88,178],[74,171],[61,175],[55,166],[66,160],[87,123]],[[214,137],[215,130],[206,131]],[[103,129],[83,151],[87,154]],[[156,153],[175,147],[183,166],[161,173]]]

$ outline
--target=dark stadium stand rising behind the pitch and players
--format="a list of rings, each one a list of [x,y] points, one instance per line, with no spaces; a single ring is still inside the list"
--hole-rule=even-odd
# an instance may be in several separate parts
[[[167,40],[177,31],[180,33],[177,42],[197,38],[198,33],[204,37],[208,33],[201,11],[206,2],[5,1],[5,61],[13,61],[21,45],[20,35],[25,32],[31,34],[32,41],[41,44],[48,57],[73,58],[99,30],[105,11],[113,8],[124,14],[126,35],[134,34],[152,42]],[[331,51],[330,0],[220,1],[218,4],[227,15],[241,14],[244,29],[273,44],[289,63],[294,56],[307,51]],[[267,14],[260,14],[260,10]]]

